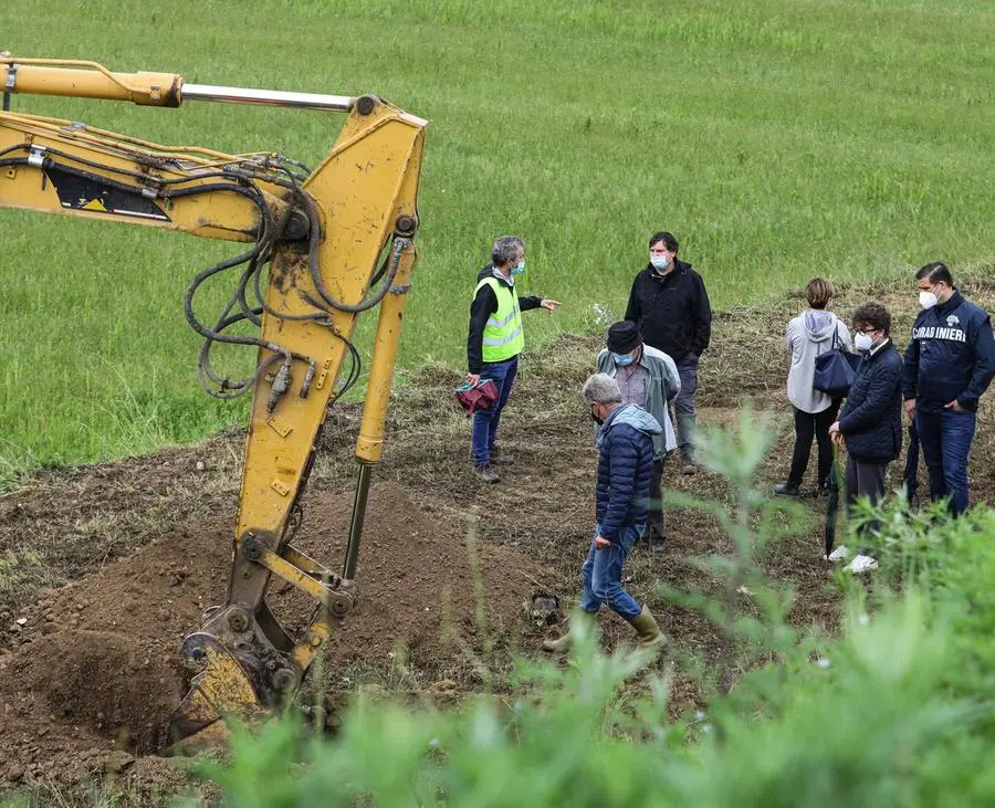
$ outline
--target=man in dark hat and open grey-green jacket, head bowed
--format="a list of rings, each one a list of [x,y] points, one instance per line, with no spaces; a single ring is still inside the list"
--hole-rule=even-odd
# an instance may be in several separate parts
[[[598,372],[614,378],[626,403],[638,405],[663,428],[661,433],[653,436],[649,520],[643,533],[650,549],[663,553],[667,531],[663,527],[661,479],[663,462],[678,445],[670,420],[670,402],[681,391],[677,365],[662,350],[643,344],[639,326],[622,321],[608,329],[605,349],[598,355]]]

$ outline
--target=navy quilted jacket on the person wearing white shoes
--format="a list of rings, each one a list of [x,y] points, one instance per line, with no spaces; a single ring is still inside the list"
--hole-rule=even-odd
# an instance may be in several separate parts
[[[839,412],[839,431],[857,460],[889,461],[902,451],[902,357],[889,342],[857,366]]]

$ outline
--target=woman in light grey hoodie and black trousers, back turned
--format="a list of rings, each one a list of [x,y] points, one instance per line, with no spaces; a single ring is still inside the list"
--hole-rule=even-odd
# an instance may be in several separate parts
[[[841,399],[813,387],[816,357],[834,348],[851,353],[853,343],[846,324],[828,311],[835,291],[825,277],[814,277],[805,285],[808,308],[787,325],[785,342],[792,357],[787,395],[795,411],[795,450],[787,482],[774,486],[782,496],[798,496],[808,468],[811,441],[818,442],[817,490],[825,492],[832,469],[832,442],[829,427],[836,421]]]

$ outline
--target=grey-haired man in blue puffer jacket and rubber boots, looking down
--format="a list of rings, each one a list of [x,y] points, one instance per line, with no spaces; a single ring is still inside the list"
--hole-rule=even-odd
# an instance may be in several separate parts
[[[639,634],[643,649],[663,643],[663,634],[646,606],[621,586],[622,567],[632,545],[642,534],[649,516],[650,479],[653,474],[653,437],[662,429],[649,412],[625,403],[618,382],[605,374],[595,374],[580,389],[590,405],[598,430],[597,527],[587,560],[580,569],[584,595],[580,615],[594,619],[607,604]],[[562,652],[570,648],[567,632],[558,640],[546,640],[543,648]]]

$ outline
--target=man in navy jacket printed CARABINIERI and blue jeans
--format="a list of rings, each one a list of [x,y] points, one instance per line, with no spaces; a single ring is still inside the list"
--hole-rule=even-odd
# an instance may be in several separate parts
[[[977,402],[995,376],[992,321],[954,287],[940,261],[915,273],[919,304],[905,349],[905,412],[914,420],[930,472],[930,496],[950,496],[967,510],[967,455],[977,427]]]

